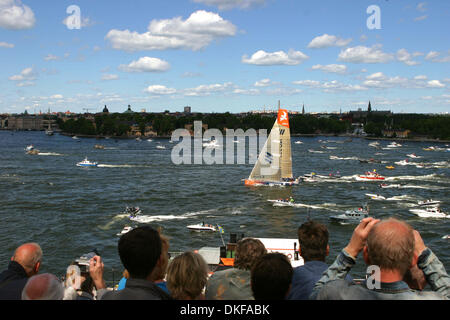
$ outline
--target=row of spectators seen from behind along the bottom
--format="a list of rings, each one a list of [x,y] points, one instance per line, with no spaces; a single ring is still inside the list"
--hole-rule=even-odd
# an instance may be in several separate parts
[[[150,226],[122,235],[118,254],[124,267],[117,288],[107,288],[99,255],[63,282],[39,273],[39,244],[19,246],[0,273],[0,300],[441,300],[450,299],[450,277],[420,233],[394,218],[365,218],[334,262],[325,225],[298,228],[304,265],[267,252],[255,238],[237,242],[234,266],[211,272],[203,257],[187,251],[171,259],[169,239]],[[359,254],[375,273],[365,281],[350,276]]]

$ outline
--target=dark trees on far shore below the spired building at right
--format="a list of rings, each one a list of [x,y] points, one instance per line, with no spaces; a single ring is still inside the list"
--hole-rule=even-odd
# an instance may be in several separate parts
[[[450,140],[450,116],[427,114],[392,114],[377,116],[369,114],[364,131],[381,137],[383,130],[410,130],[411,136]]]

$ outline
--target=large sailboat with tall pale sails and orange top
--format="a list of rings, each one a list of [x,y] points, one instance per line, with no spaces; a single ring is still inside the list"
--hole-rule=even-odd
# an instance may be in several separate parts
[[[299,181],[292,175],[288,111],[278,106],[277,120],[245,185],[292,186]]]

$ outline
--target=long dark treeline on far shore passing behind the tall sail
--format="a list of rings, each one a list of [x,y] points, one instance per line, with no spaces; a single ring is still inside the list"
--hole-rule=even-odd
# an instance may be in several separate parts
[[[208,128],[219,129],[267,129],[272,128],[275,115],[247,114],[245,116],[231,113],[208,113],[175,116],[170,114],[123,114],[112,113],[95,116],[91,121],[84,117],[63,121],[58,118],[60,129],[70,134],[126,136],[132,126],[138,126],[142,134],[151,126],[158,136],[169,136],[172,131],[185,128],[194,121],[202,121]],[[347,121],[334,118],[317,118],[312,115],[291,115],[290,128],[292,134],[340,134],[350,129]]]

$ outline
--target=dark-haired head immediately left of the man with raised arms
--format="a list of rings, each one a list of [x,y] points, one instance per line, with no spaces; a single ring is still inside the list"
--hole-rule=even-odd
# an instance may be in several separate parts
[[[330,253],[328,229],[313,220],[303,223],[297,230],[300,255],[306,261],[325,261]]]

